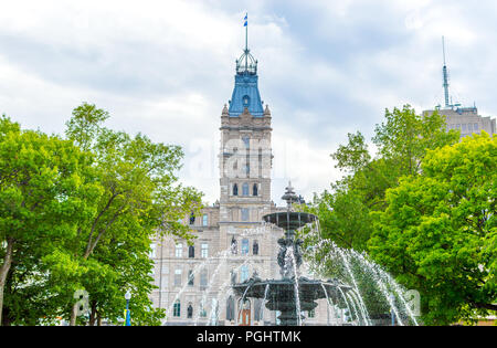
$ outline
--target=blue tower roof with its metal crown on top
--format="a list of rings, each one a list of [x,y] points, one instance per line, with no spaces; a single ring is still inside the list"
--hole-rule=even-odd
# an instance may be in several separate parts
[[[257,61],[245,48],[242,56],[236,61],[236,75],[233,95],[230,101],[230,116],[237,117],[245,107],[254,117],[263,117],[264,109],[258,93]]]

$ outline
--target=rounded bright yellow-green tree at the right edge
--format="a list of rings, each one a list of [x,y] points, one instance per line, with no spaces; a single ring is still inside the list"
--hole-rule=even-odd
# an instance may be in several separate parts
[[[497,138],[430,150],[421,173],[387,192],[369,251],[422,295],[424,320],[452,324],[497,310]]]

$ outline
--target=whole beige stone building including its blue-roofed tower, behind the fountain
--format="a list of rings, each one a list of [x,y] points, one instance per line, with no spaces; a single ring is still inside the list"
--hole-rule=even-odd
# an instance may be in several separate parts
[[[243,282],[254,272],[263,278],[281,277],[276,255],[283,231],[264,225],[262,217],[286,210],[271,200],[272,117],[268,106],[260,102],[256,68],[237,66],[233,98],[231,110],[225,105],[221,114],[220,200],[194,220],[184,218],[197,236],[192,246],[172,238],[154,243],[154,278],[159,288],[151,299],[167,310],[165,325],[269,325],[276,320],[274,313],[261,310],[262,300],[242,306],[230,291],[231,282]],[[245,106],[242,113],[241,105]],[[306,324],[326,324],[326,303],[321,300],[318,308]]]

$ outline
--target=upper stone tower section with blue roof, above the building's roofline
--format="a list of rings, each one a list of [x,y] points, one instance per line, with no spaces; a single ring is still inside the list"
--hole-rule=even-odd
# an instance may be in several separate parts
[[[258,92],[257,61],[236,60],[233,94],[221,115],[220,221],[261,223],[271,209],[271,112]]]

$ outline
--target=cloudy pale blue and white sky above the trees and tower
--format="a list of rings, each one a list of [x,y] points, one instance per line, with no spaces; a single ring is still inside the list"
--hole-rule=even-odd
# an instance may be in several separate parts
[[[273,191],[310,200],[342,173],[347,134],[385,108],[453,101],[497,115],[497,2],[489,0],[0,0],[0,114],[62,134],[83,102],[107,126],[181,145],[184,184],[219,198],[220,116],[245,41],[273,116]]]

